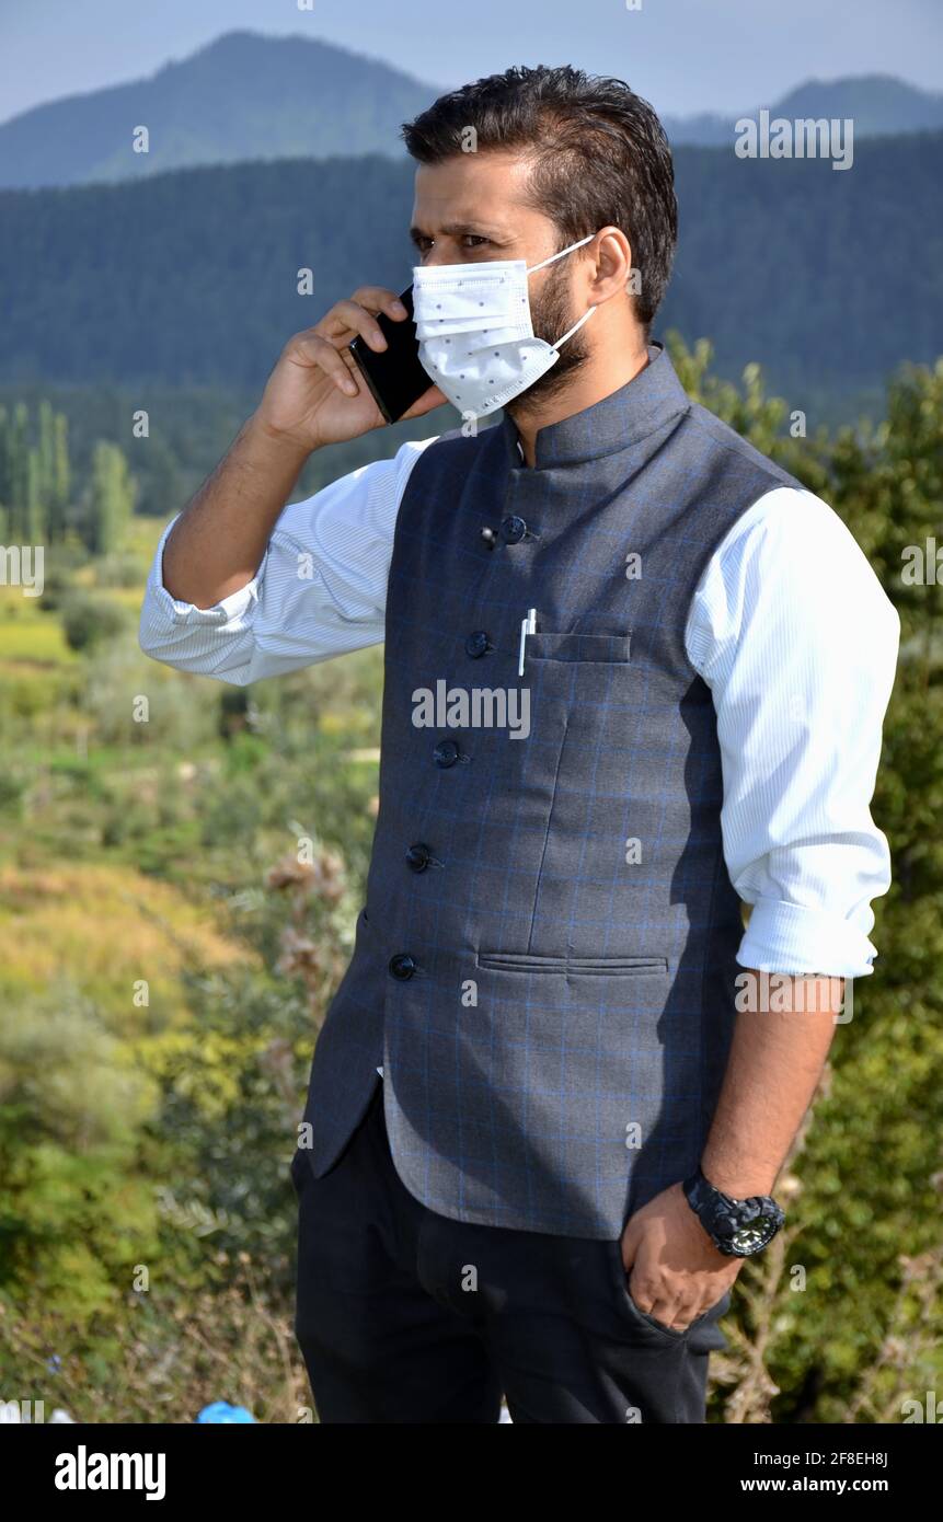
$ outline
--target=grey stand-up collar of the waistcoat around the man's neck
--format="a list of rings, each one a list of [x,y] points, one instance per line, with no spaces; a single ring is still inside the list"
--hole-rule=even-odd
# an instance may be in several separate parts
[[[687,393],[663,344],[649,344],[649,362],[637,376],[602,400],[573,412],[559,423],[538,429],[536,469],[577,464],[619,454],[661,428],[669,419],[687,411]],[[504,412],[501,429],[507,458],[513,467],[524,460],[513,420]]]

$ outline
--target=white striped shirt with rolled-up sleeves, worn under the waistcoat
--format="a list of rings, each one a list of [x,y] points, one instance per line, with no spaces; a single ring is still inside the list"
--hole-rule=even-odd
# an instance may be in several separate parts
[[[431,443],[285,507],[253,580],[215,607],[163,584],[174,517],[148,578],[142,650],[242,686],[379,644],[399,502]],[[311,575],[299,574],[305,556]],[[701,577],[686,648],[718,715],[727,869],[753,906],[743,966],[871,971],[871,900],[888,890],[890,852],[870,801],[899,633],[856,540],[810,492],[762,496]]]

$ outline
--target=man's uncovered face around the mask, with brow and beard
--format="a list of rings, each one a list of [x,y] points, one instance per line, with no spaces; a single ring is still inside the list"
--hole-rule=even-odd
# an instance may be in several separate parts
[[[561,245],[559,230],[542,212],[526,204],[530,161],[519,154],[456,154],[440,164],[416,170],[411,237],[417,263],[469,265],[489,259],[524,259],[538,265]],[[555,344],[573,327],[573,277],[583,250],[574,250],[527,277],[533,332]],[[547,374],[521,391],[506,411],[530,406],[558,394],[590,350],[583,330],[567,339]]]

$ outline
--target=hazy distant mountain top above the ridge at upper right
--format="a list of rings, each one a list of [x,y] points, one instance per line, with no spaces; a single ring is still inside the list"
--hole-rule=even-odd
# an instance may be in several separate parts
[[[664,117],[664,131],[672,146],[692,143],[721,148],[733,143],[736,122],[753,117],[759,107],[739,116],[702,113],[689,117]],[[786,117],[789,122],[812,117],[818,120],[836,117],[855,123],[855,139],[888,137],[897,132],[922,132],[943,128],[943,94],[917,90],[890,75],[862,75],[858,79],[809,79],[785,94],[782,100],[768,105],[771,117]]]

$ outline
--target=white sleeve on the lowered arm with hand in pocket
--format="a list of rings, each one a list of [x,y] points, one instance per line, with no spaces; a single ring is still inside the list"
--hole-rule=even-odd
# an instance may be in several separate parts
[[[890,886],[870,802],[900,621],[859,545],[810,492],[745,513],[701,578],[689,656],[711,689],[730,880],[753,906],[737,960],[862,977]]]

